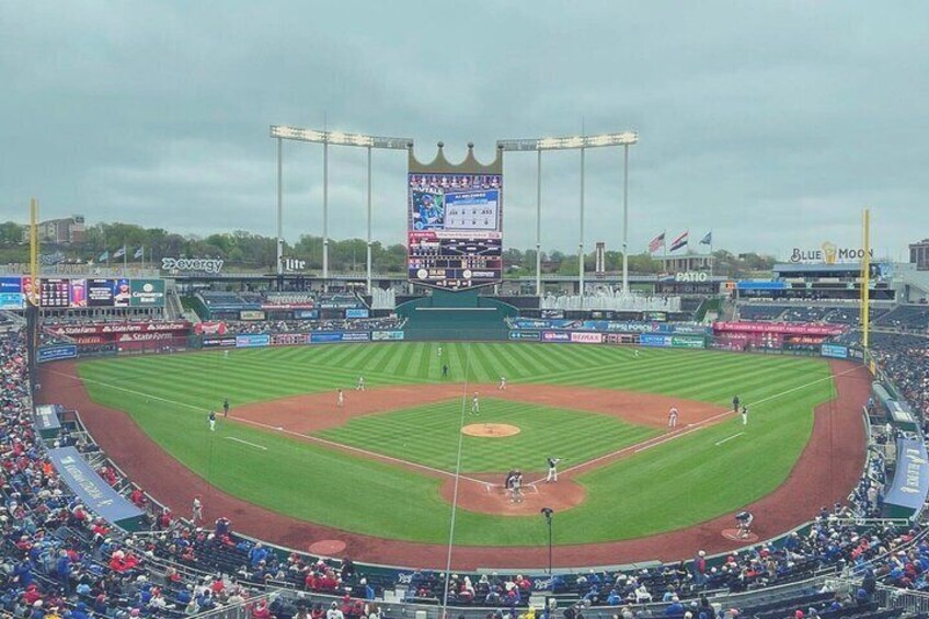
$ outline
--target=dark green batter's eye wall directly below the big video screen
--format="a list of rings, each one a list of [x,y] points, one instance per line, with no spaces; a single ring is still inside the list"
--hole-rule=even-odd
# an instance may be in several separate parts
[[[406,319],[403,332],[408,341],[503,341],[509,337],[506,319],[518,316],[519,310],[482,297],[478,290],[435,290],[429,297],[397,306],[397,314]]]

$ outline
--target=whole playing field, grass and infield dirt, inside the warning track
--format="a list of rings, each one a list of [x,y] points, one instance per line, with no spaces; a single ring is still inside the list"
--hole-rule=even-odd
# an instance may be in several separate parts
[[[555,545],[641,538],[731,514],[784,483],[811,437],[814,410],[836,396],[834,370],[822,359],[668,349],[633,356],[630,348],[560,344],[332,344],[48,371],[59,381],[77,372],[80,389],[110,415],[94,422],[100,432],[101,419],[115,423],[123,411],[221,493],[372,538],[447,540],[460,437],[456,543],[475,547],[544,545],[536,507],[549,500],[559,506]],[[355,390],[359,376],[364,392]],[[745,425],[731,412],[735,394],[749,408]],[[673,431],[669,406],[680,411]],[[215,432],[210,410],[219,416]],[[492,424],[518,434],[460,432]],[[548,456],[563,458],[557,484],[541,481]],[[529,509],[500,489],[512,468],[525,473]]]

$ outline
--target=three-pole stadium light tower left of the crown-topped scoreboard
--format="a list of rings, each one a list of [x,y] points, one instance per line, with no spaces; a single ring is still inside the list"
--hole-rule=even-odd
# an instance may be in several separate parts
[[[301,129],[283,125],[271,126],[271,137],[277,138],[277,274],[283,275],[282,263],[284,251],[284,140],[297,140],[322,144],[322,284],[329,289],[329,145],[357,146],[368,151],[368,259],[367,259],[367,291],[371,294],[371,149],[406,150],[412,138],[389,138],[383,136],[366,136],[362,134],[344,134],[342,131],[319,131]]]

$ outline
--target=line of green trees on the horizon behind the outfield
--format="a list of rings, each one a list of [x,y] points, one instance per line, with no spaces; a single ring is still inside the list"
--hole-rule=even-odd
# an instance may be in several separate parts
[[[0,263],[25,263],[28,261],[28,244],[24,242],[26,227],[14,221],[0,223]],[[221,257],[229,267],[255,271],[274,271],[277,260],[277,239],[254,234],[245,230],[216,232],[207,237],[180,234],[163,228],[144,228],[135,223],[95,223],[87,226],[83,240],[72,244],[43,243],[42,253],[54,256],[55,262],[96,263],[103,252],[112,255],[125,247],[127,260],[139,263],[160,263],[162,257]],[[135,252],[144,248],[144,259],[135,259]],[[285,243],[284,255],[306,261],[310,271],[322,270],[323,240],[314,234],[301,234],[296,243]],[[714,273],[744,276],[755,272],[770,271],[773,257],[756,253],[734,255],[725,250],[713,252]],[[366,268],[367,242],[364,239],[329,240],[329,267],[333,272],[364,272]],[[536,272],[536,250],[508,248],[503,254],[508,275],[531,275]],[[122,262],[123,259],[112,259]],[[542,273],[574,275],[578,271],[577,254],[559,250],[542,252]],[[402,243],[371,243],[371,264],[378,273],[403,273],[406,270],[406,248]],[[594,271],[594,252],[585,255],[585,270]],[[607,272],[622,270],[622,253],[607,251]],[[657,274],[661,261],[649,253],[629,256],[629,271],[636,274]]]

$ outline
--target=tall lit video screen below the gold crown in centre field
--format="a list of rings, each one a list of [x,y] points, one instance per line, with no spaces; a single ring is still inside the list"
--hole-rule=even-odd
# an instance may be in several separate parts
[[[409,279],[462,290],[503,275],[503,176],[410,174]]]

